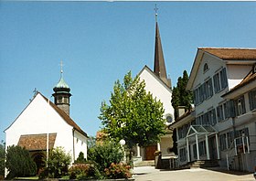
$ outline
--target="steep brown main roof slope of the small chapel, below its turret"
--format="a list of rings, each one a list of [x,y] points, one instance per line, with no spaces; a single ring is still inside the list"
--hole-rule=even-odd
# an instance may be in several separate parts
[[[41,94],[41,93],[40,93]],[[41,94],[42,95],[42,94]],[[43,96],[43,95],[42,95]],[[48,101],[48,99],[43,96],[43,98]],[[77,130],[79,133],[87,136],[87,133],[85,133],[84,131],[82,131],[82,129],[80,128],[80,126],[78,124],[76,124],[76,122],[74,122],[69,115],[66,112],[63,112],[61,109],[59,109],[59,107],[57,105],[55,105],[53,102],[49,101],[50,106],[59,113],[59,115],[63,118],[63,120],[65,120],[65,122],[67,122],[70,126],[72,126],[75,130]]]

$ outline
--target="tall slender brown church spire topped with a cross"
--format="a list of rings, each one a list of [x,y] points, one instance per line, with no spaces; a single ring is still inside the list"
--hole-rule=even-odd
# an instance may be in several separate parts
[[[161,44],[161,38],[159,33],[159,27],[157,23],[157,10],[155,5],[155,62],[154,62],[154,72],[157,77],[165,82],[165,84],[171,88],[171,81],[167,79],[166,69],[165,69],[165,59],[163,48]]]

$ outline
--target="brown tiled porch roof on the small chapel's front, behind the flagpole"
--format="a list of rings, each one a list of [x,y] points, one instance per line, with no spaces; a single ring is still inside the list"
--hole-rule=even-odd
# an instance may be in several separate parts
[[[26,134],[21,135],[18,140],[18,144],[21,147],[25,147],[29,151],[35,150],[47,150],[47,139],[48,149],[52,149],[56,140],[57,133],[41,134]]]

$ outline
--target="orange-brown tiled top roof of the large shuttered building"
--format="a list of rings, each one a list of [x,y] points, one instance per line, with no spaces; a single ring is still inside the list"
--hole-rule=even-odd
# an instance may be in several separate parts
[[[220,59],[256,59],[256,48],[198,48]]]

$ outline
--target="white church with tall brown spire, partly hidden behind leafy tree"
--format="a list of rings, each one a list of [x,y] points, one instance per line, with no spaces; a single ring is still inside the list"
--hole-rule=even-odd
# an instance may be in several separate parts
[[[174,108],[172,106],[172,85],[171,80],[167,78],[165,69],[165,59],[161,43],[159,27],[157,23],[157,15],[155,15],[155,59],[154,70],[144,66],[138,76],[140,80],[145,82],[145,90],[152,93],[153,97],[163,103],[165,110],[164,117],[166,119],[166,134],[161,137],[157,144],[153,144],[144,148],[137,146],[133,149],[133,159],[141,160],[155,160],[155,151],[161,151],[163,157],[168,157],[173,154],[171,149],[173,147],[172,131],[167,129],[167,126],[174,122]]]

